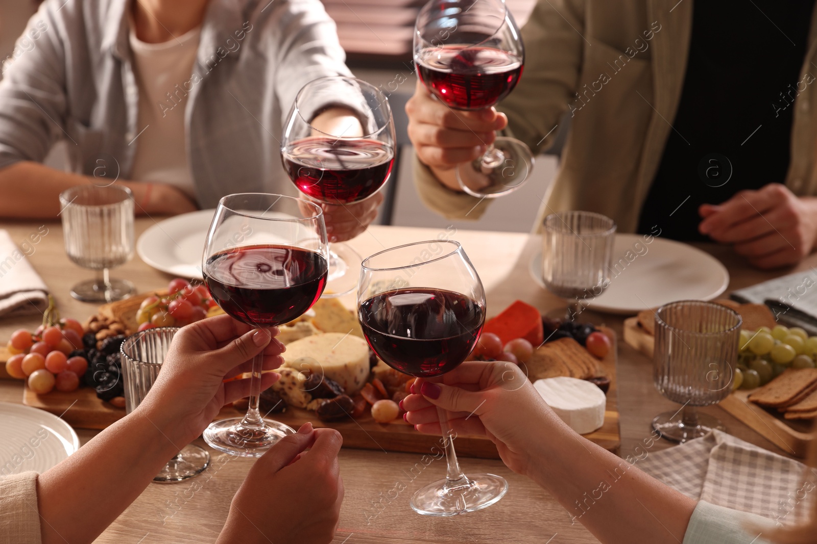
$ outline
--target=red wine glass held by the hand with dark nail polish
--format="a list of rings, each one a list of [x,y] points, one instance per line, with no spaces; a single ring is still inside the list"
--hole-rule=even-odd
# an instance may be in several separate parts
[[[474,266],[457,241],[421,241],[364,259],[358,288],[358,319],[368,345],[386,365],[417,378],[456,368],[480,338],[485,293]],[[449,416],[438,409],[448,470],[411,499],[423,515],[480,510],[507,492],[493,474],[465,475],[454,452]]]

